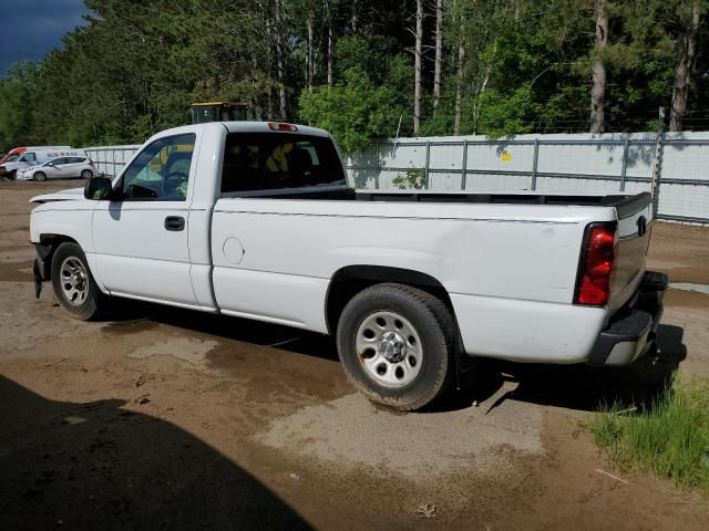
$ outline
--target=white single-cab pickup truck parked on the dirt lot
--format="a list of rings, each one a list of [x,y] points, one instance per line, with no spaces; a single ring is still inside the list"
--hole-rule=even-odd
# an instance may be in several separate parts
[[[113,180],[32,201],[38,290],[73,316],[121,296],[335,334],[354,386],[407,410],[469,356],[631,363],[667,285],[648,194],[356,191],[300,125],[165,131]]]

